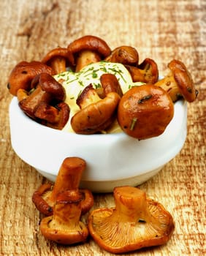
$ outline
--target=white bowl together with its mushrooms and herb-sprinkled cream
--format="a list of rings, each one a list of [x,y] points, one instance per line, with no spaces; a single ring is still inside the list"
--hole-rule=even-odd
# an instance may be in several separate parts
[[[185,65],[172,60],[159,79],[152,59],[137,50],[110,50],[85,36],[51,50],[42,61],[22,61],[9,76],[12,148],[55,181],[66,157],[87,167],[81,187],[112,192],[147,181],[186,140],[187,102],[197,90]]]

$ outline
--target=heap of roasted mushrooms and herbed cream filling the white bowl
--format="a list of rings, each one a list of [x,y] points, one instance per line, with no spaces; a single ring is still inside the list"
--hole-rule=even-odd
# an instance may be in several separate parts
[[[197,98],[183,62],[173,59],[168,67],[159,80],[156,61],[145,58],[139,64],[135,48],[111,50],[104,39],[85,35],[50,50],[41,61],[21,61],[7,88],[27,116],[47,127],[83,135],[123,130],[142,140],[164,132],[173,117],[172,102]]]

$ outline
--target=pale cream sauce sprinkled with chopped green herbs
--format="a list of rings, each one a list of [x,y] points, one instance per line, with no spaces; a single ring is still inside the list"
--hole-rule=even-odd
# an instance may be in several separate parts
[[[118,78],[123,94],[131,89],[133,86],[140,86],[142,83],[133,83],[131,80],[131,75],[126,67],[120,63],[112,63],[106,61],[100,61],[94,64],[89,64],[80,70],[80,72],[66,71],[61,74],[55,75],[54,78],[64,86],[66,90],[65,102],[69,105],[70,115],[69,121],[67,122],[64,130],[68,132],[73,132],[70,125],[70,120],[72,116],[80,110],[79,106],[76,104],[77,97],[81,94],[83,89],[89,84],[92,84],[94,89],[98,89],[101,86],[100,77],[104,73],[110,73]],[[114,127],[110,129],[112,132],[120,132],[117,122]]]

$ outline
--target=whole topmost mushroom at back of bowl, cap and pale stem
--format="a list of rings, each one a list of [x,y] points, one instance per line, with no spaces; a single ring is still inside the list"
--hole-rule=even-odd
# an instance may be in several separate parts
[[[68,49],[75,56],[75,72],[79,72],[80,69],[83,69],[88,64],[101,61],[111,52],[110,47],[103,39],[91,35],[80,37],[71,42],[68,45]]]

